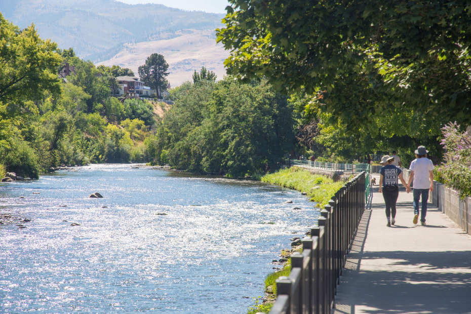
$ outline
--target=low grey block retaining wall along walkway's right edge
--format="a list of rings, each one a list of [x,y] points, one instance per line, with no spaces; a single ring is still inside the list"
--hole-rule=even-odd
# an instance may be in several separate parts
[[[403,169],[406,182],[409,180],[409,174],[410,170]],[[461,200],[455,190],[434,181],[434,190],[429,193],[428,202],[438,207],[442,213],[471,235],[471,198]]]

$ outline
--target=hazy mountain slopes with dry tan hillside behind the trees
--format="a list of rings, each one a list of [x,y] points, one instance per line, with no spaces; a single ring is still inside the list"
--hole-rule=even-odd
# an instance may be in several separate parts
[[[94,63],[116,60],[137,74],[137,66],[157,52],[168,59],[175,82],[191,79],[187,73],[210,64],[222,78],[224,54],[213,33],[221,26],[221,14],[115,0],[2,0],[0,12],[22,28],[34,23],[42,38],[51,38],[61,49],[72,47]],[[185,36],[191,33],[195,37]]]

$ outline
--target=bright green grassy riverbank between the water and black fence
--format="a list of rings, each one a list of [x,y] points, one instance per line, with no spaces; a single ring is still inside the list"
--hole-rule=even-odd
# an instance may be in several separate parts
[[[316,207],[323,208],[345,184],[347,179],[348,178],[334,178],[331,175],[319,174],[294,166],[265,175],[261,178],[261,181],[298,190],[303,195],[306,195],[310,201],[316,202]],[[306,232],[306,235],[310,235],[309,232]],[[279,256],[280,259],[272,261],[273,264],[278,264],[282,267],[273,267],[278,270],[266,276],[264,286],[265,295],[261,303],[259,303],[261,297],[255,300],[255,304],[248,309],[247,314],[255,314],[257,312],[267,313],[271,309],[273,302],[277,298],[276,280],[281,276],[289,276],[291,271],[291,255],[294,252],[302,252],[301,239],[293,238],[290,240],[292,241],[292,248],[282,250]]]

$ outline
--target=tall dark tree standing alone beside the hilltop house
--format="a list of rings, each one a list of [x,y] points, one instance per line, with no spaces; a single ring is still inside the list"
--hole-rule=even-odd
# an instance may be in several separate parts
[[[162,92],[167,89],[168,81],[166,76],[169,64],[165,61],[164,56],[160,54],[151,54],[146,60],[145,64],[139,66],[138,72],[141,81],[147,86],[155,89],[158,98],[162,98]]]

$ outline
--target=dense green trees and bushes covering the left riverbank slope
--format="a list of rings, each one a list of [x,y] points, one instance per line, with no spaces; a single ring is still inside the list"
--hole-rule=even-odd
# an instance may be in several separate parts
[[[58,71],[68,63],[70,75]],[[38,178],[60,165],[144,162],[148,102],[110,96],[119,66],[98,68],[0,14],[0,175]]]

